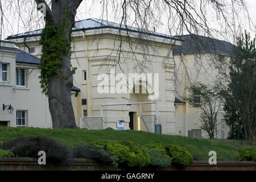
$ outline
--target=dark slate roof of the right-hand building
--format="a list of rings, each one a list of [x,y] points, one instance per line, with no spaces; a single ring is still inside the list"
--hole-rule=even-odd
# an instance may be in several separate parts
[[[177,38],[183,39],[182,45],[174,48],[174,55],[181,53],[211,52],[224,55],[233,55],[234,45],[224,40],[209,38],[196,34],[180,35]]]

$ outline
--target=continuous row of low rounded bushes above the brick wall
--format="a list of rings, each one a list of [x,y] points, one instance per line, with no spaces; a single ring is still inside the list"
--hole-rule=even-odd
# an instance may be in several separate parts
[[[0,147],[0,156],[38,158],[46,152],[47,164],[59,164],[69,158],[89,158],[114,167],[174,167],[191,166],[192,155],[179,146],[168,143],[146,144],[143,147],[126,140],[100,140],[68,150],[66,146],[48,137],[18,137]],[[6,151],[9,150],[9,151]]]

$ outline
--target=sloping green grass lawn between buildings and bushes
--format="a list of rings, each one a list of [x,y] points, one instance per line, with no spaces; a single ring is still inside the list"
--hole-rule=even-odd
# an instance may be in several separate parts
[[[239,149],[244,146],[250,146],[250,142],[246,140],[242,140],[242,144],[240,144],[238,140],[197,139],[133,130],[39,129],[0,126],[0,144],[20,136],[30,135],[47,136],[68,147],[102,139],[130,140],[141,145],[159,142],[172,143],[187,148],[191,154],[200,156],[201,160],[208,160],[208,152],[212,150],[217,152],[217,160],[237,160]]]

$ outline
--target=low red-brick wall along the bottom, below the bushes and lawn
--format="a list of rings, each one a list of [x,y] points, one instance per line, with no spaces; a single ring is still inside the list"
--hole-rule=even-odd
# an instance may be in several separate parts
[[[42,171],[42,170],[77,170],[77,171],[120,171],[113,166],[103,166],[92,159],[72,159],[61,166],[40,166],[36,158],[0,158],[0,171]],[[144,169],[147,170],[147,169]],[[172,166],[163,171],[256,171],[256,162],[217,161],[209,165],[208,161],[195,160],[191,167],[176,169]]]

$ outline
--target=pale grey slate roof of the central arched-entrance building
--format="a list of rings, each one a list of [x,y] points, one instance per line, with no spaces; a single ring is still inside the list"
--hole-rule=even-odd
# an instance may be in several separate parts
[[[158,36],[158,37],[167,38],[167,39],[179,40],[179,38],[175,38],[174,36],[160,34],[154,31],[142,30],[139,28],[131,27],[131,26],[125,26],[123,24],[120,27],[120,24],[118,23],[109,22],[109,21],[97,19],[97,18],[89,18],[89,19],[77,21],[72,31],[75,32],[75,31],[97,30],[102,28],[114,28],[117,30],[121,28],[121,30],[126,30],[129,32],[137,32],[137,33],[141,32],[142,34],[146,34],[147,36]],[[10,40],[10,39],[24,38],[29,36],[40,36],[41,33],[42,33],[42,29],[24,32],[22,34],[11,35],[11,36],[8,36],[6,39]]]

